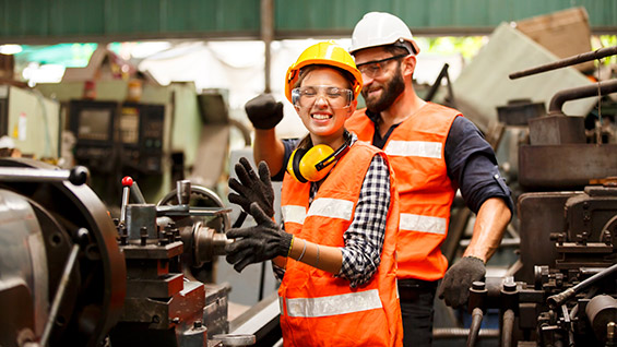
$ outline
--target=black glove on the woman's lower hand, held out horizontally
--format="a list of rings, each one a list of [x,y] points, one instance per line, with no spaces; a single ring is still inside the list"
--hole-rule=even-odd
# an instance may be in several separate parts
[[[287,234],[270,219],[257,203],[251,203],[250,214],[257,222],[253,227],[234,228],[226,232],[227,239],[236,239],[225,246],[227,263],[237,272],[247,265],[261,263],[276,256],[287,256],[292,246]]]

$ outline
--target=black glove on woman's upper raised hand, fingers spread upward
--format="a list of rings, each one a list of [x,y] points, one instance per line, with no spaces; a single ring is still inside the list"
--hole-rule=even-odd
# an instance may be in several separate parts
[[[274,190],[270,182],[270,169],[265,161],[258,165],[259,177],[254,174],[251,164],[245,157],[240,158],[234,167],[238,179],[229,179],[229,188],[236,192],[227,195],[230,203],[239,205],[246,213],[250,213],[251,203],[258,203],[261,211],[270,218],[274,216]]]

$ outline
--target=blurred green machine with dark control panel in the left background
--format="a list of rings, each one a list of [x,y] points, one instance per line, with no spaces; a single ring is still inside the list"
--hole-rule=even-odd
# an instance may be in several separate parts
[[[141,98],[127,100],[129,82],[96,81],[95,98],[84,98],[86,82],[38,84],[62,105],[74,164],[86,166],[91,186],[110,207],[120,205],[121,179],[131,176],[147,201],[158,201],[194,165],[202,117],[192,84],[143,84]]]

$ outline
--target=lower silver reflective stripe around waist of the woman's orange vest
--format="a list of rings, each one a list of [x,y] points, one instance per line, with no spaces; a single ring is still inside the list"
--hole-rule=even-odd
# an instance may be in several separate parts
[[[289,316],[329,316],[381,309],[377,289],[348,292],[331,297],[287,299]]]

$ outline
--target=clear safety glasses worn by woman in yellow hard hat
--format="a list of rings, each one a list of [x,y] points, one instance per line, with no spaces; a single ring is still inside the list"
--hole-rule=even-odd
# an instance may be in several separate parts
[[[310,108],[318,98],[327,100],[330,107],[337,109],[349,107],[354,94],[351,89],[331,85],[307,85],[292,89],[292,100],[296,107]]]

